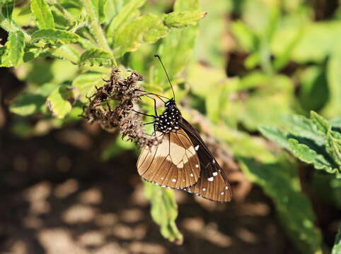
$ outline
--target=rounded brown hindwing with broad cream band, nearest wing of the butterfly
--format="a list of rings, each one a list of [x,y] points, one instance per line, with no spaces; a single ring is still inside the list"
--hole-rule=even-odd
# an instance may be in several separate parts
[[[182,129],[163,135],[160,145],[144,147],[137,161],[137,171],[146,181],[163,187],[185,188],[200,178],[200,162],[195,148]]]

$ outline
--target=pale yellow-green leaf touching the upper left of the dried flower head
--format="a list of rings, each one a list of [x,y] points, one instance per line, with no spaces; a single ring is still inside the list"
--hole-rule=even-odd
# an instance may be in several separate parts
[[[76,89],[75,93],[79,93],[81,102],[88,102],[87,97],[96,92],[96,87],[103,85],[103,74],[100,73],[83,73],[72,81],[72,87]]]

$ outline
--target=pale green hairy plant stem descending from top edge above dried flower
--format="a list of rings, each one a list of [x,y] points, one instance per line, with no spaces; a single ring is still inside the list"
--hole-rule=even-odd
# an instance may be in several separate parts
[[[102,49],[107,50],[108,52],[111,52],[107,39],[105,38],[104,32],[102,28],[100,27],[98,16],[95,13],[95,9],[93,8],[93,4],[91,3],[91,0],[83,0],[83,4],[90,18],[91,32],[93,32],[93,35],[98,42],[98,45]]]

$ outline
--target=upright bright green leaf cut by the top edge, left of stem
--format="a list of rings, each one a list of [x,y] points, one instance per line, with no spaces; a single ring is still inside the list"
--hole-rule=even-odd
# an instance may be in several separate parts
[[[37,20],[37,27],[40,29],[54,28],[54,19],[50,7],[45,0],[31,0],[31,11]]]

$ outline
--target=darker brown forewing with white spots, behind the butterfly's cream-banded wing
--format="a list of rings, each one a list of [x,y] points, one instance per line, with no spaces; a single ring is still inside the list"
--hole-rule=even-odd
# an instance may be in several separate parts
[[[213,201],[227,202],[232,198],[232,189],[226,176],[226,171],[222,169],[214,159],[199,133],[185,119],[180,121],[180,127],[190,137],[200,160],[200,179],[185,191],[195,193]]]

